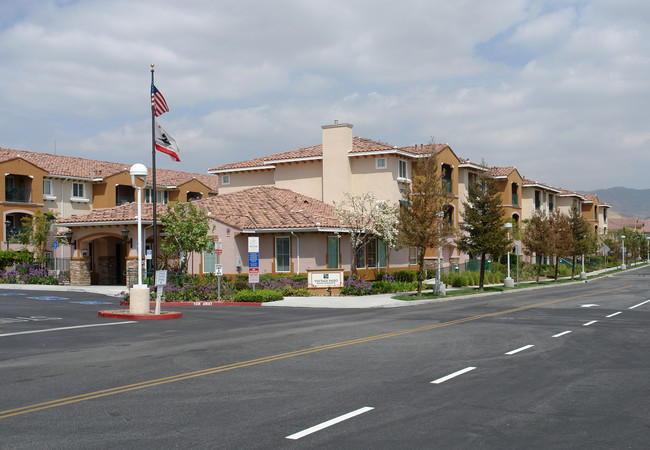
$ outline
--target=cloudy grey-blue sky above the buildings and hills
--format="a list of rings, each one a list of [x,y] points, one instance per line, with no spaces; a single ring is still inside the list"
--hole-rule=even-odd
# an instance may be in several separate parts
[[[150,63],[181,162],[321,125],[574,190],[650,188],[647,0],[0,1],[0,146],[151,164]]]

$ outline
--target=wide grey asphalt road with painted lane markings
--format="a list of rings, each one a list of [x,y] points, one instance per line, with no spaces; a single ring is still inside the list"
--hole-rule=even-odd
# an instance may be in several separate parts
[[[647,268],[140,322],[98,318],[108,297],[4,291],[0,448],[647,448],[649,289]]]

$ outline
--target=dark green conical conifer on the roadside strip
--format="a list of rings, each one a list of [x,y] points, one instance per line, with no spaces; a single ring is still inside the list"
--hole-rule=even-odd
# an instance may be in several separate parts
[[[481,265],[478,290],[483,290],[486,256],[494,259],[503,255],[508,248],[507,230],[503,224],[503,209],[499,185],[492,178],[480,175],[472,183],[463,201],[463,236],[458,239],[458,248],[464,252],[480,255]]]

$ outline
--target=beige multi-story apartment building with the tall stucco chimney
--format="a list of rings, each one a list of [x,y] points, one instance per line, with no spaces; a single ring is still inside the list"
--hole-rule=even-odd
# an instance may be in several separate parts
[[[342,201],[346,192],[373,192],[378,200],[397,204],[402,189],[418,170],[418,160],[433,150],[449,191],[445,217],[454,227],[458,225],[461,160],[448,144],[396,147],[353,136],[352,128],[349,123],[325,125],[321,127],[321,144],[213,167],[208,172],[219,176],[221,195],[254,186],[273,186],[330,205]],[[442,254],[444,261],[456,263],[458,251],[453,238],[443,246]],[[425,259],[429,265],[434,264],[437,249],[428,250]],[[372,258],[365,258],[369,260]],[[414,257],[411,262],[415,266]]]

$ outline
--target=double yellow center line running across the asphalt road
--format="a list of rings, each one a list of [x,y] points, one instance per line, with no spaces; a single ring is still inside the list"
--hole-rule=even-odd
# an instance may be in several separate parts
[[[547,302],[541,302],[541,303],[535,303],[532,305],[527,305],[527,306],[521,306],[518,308],[512,308],[512,309],[507,309],[503,311],[497,311],[493,313],[487,313],[487,314],[479,314],[476,316],[469,316],[469,317],[463,317],[461,319],[456,319],[456,320],[451,320],[448,322],[442,322],[442,323],[436,323],[433,325],[426,325],[423,327],[418,327],[418,328],[411,328],[408,330],[401,330],[401,331],[394,331],[391,333],[384,333],[384,334],[378,334],[375,336],[367,336],[367,337],[362,337],[362,338],[357,338],[357,339],[351,339],[348,341],[343,341],[343,342],[335,342],[332,344],[327,344],[327,345],[321,345],[318,347],[311,347],[311,348],[305,348],[301,350],[295,350],[292,352],[287,352],[287,353],[280,353],[278,355],[271,355],[271,356],[266,356],[263,358],[257,358],[257,359],[251,359],[248,361],[242,361],[238,363],[233,363],[233,364],[227,364],[223,366],[218,366],[218,367],[212,367],[209,369],[203,369],[203,370],[197,370],[195,372],[187,372],[187,373],[182,373],[178,375],[173,375],[169,377],[164,377],[164,378],[157,378],[155,380],[148,380],[148,381],[142,381],[140,383],[134,383],[134,384],[127,384],[124,386],[118,386],[110,389],[104,389],[101,391],[95,391],[95,392],[89,392],[86,394],[80,394],[80,395],[75,395],[72,397],[65,397],[65,398],[60,398],[57,400],[51,400],[49,402],[43,402],[43,403],[37,403],[33,405],[28,405],[28,406],[23,406],[20,408],[14,408],[14,409],[8,409],[5,411],[0,411],[0,419],[6,419],[8,417],[13,417],[13,416],[18,416],[21,414],[28,414],[28,413],[33,413],[36,411],[41,411],[44,409],[49,409],[49,408],[55,408],[59,406],[64,406],[64,405],[69,405],[71,403],[78,403],[78,402],[83,402],[87,400],[92,400],[95,398],[100,398],[100,397],[106,397],[109,395],[116,395],[116,394],[122,394],[125,392],[129,391],[135,391],[138,389],[144,389],[144,388],[149,388],[153,386],[159,386],[162,384],[167,384],[167,383],[174,383],[177,381],[182,381],[182,380],[189,380],[191,378],[197,378],[197,377],[202,377],[205,375],[212,375],[215,373],[220,373],[220,372],[226,372],[230,370],[235,370],[235,369],[241,369],[244,367],[249,367],[249,366],[254,366],[258,364],[265,364],[268,362],[273,362],[273,361],[279,361],[281,359],[286,359],[286,358],[294,358],[296,356],[302,356],[302,355],[307,355],[310,353],[316,353],[316,352],[322,352],[324,350],[332,350],[340,347],[346,347],[349,345],[355,345],[355,344],[363,344],[366,342],[372,342],[372,341],[377,341],[380,339],[387,339],[391,337],[396,337],[396,336],[403,336],[406,334],[411,334],[411,333],[418,333],[421,331],[429,331],[429,330],[434,330],[436,328],[442,328],[442,327],[448,327],[450,325],[458,325],[461,323],[466,323],[466,322],[471,322],[474,320],[479,320],[479,319],[485,319],[487,317],[496,317],[496,316],[502,316],[505,314],[512,314],[515,312],[519,311],[525,311],[527,309],[533,309],[533,308],[539,308],[541,306],[547,306],[547,305],[552,305],[554,303],[561,303],[561,302],[566,302],[569,300],[575,300],[578,298],[584,298],[584,297],[592,297],[595,295],[601,295],[601,294],[607,294],[609,292],[614,292],[618,291],[621,289],[627,289],[632,285],[627,285],[623,286],[620,288],[615,288],[615,289],[608,289],[604,291],[598,291],[598,292],[593,292],[590,294],[581,294],[581,295],[574,295],[572,297],[566,297],[558,300],[550,300]]]

